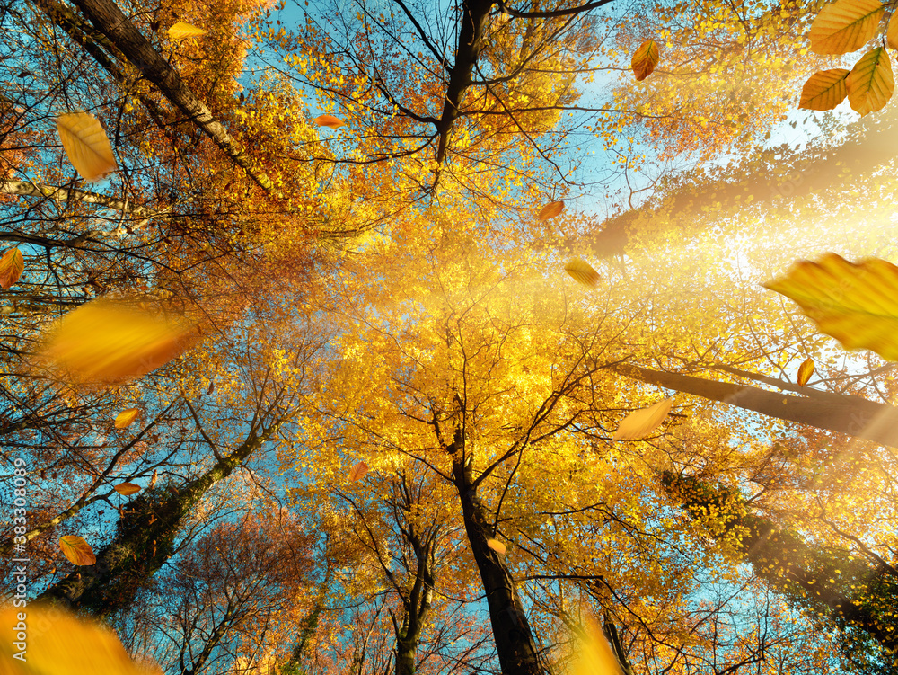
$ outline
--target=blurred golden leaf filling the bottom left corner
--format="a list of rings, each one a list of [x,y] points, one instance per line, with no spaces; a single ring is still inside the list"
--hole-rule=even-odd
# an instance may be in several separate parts
[[[59,605],[7,605],[0,608],[0,630],[3,675],[162,675],[155,663],[133,662],[110,628]]]

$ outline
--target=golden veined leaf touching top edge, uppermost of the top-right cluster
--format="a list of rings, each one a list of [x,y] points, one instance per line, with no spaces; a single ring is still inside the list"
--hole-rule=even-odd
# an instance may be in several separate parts
[[[836,0],[827,4],[811,24],[808,37],[817,54],[848,54],[876,35],[885,8],[879,0]]]

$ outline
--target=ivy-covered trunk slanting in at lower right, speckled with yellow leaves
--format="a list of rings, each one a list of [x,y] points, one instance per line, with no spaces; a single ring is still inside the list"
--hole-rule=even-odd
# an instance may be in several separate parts
[[[695,518],[715,514],[710,523],[715,537],[737,533],[737,550],[744,560],[788,599],[809,605],[841,629],[865,631],[886,650],[898,650],[894,569],[871,565],[848,551],[808,546],[797,533],[750,513],[734,490],[671,472],[665,472],[661,482]]]

